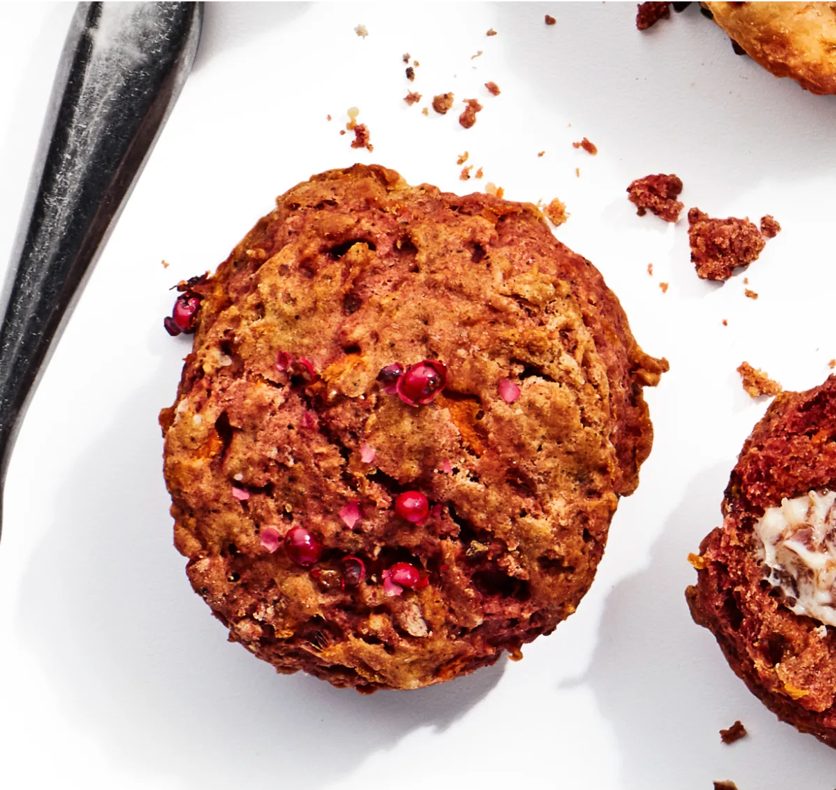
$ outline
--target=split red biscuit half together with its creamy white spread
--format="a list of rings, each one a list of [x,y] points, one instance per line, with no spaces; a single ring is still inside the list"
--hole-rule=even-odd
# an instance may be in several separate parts
[[[726,487],[686,590],[737,675],[782,721],[836,747],[836,376],[777,395]]]

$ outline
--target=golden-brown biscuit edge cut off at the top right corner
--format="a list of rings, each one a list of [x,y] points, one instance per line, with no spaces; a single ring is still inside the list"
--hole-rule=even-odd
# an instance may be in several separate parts
[[[702,3],[747,55],[814,94],[836,93],[833,3]]]

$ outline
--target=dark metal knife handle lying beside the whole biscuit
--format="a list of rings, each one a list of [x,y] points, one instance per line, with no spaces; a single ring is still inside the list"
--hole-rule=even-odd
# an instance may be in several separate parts
[[[191,70],[202,13],[202,3],[76,9],[0,297],[0,528],[29,397]]]

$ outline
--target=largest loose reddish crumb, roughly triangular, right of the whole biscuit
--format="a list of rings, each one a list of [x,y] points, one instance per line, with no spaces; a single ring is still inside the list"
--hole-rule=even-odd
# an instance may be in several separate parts
[[[696,273],[708,280],[727,280],[736,267],[757,260],[766,243],[748,219],[712,219],[698,208],[688,210],[688,238]]]

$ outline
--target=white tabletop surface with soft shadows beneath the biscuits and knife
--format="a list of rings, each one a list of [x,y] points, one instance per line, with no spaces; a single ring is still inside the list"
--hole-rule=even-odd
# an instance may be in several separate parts
[[[72,12],[0,7],[3,267]],[[736,57],[696,4],[649,33],[634,17],[635,3],[206,8],[194,73],[9,471],[0,787],[833,788],[836,753],[746,691],[683,590],[695,578],[686,555],[719,522],[765,408],[735,368],[747,359],[803,389],[836,357],[836,100]],[[405,52],[421,63],[414,84]],[[407,107],[408,89],[425,100]],[[471,130],[458,106],[421,115],[449,90],[484,104]],[[374,154],[339,135],[353,105]],[[573,149],[584,135],[599,155]],[[485,181],[458,180],[464,150]],[[168,288],[214,268],[275,195],[358,160],[457,192],[494,181],[511,199],[559,196],[571,217],[558,237],[601,269],[640,343],[671,364],[648,393],[656,442],[640,489],[578,613],[522,663],[371,697],[275,675],[227,645],[171,547],[156,426],[190,342],[162,329]],[[650,172],[681,176],[686,206],[782,223],[747,273],[757,301],[743,275],[696,278],[686,222],[636,217],[624,188]],[[750,736],[721,745],[738,718]]]

